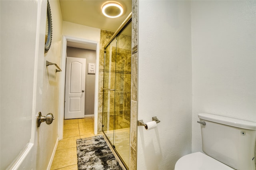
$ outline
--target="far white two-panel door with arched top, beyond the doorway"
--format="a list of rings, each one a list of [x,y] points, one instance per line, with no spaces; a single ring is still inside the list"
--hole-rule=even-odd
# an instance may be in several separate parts
[[[85,58],[67,57],[64,119],[84,118],[85,72]]]

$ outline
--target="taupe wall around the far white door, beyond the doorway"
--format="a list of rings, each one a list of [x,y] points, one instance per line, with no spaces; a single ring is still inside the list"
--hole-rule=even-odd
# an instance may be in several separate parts
[[[88,63],[96,63],[96,51],[67,47],[67,56],[86,59],[84,115],[94,115],[95,74],[88,74]]]

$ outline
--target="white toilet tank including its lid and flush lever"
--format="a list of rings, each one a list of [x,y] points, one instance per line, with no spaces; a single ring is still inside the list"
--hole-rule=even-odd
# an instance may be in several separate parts
[[[255,170],[256,123],[200,113],[202,150],[237,170]]]

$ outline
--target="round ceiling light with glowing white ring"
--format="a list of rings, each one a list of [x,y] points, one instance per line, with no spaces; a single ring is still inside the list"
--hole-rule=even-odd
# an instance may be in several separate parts
[[[123,12],[123,7],[116,2],[108,2],[102,7],[102,13],[108,18],[117,18],[121,16]]]

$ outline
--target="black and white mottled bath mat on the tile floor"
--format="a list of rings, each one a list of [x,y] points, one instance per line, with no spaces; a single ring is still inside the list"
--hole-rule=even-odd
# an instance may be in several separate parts
[[[78,170],[123,170],[102,135],[77,139]]]

